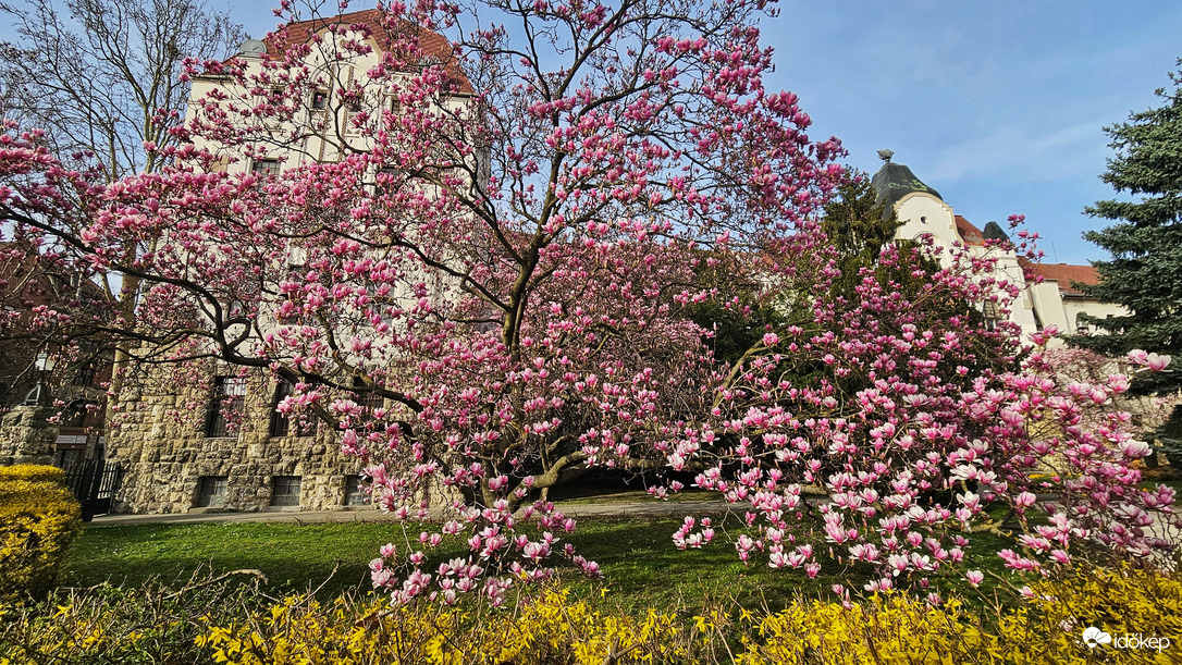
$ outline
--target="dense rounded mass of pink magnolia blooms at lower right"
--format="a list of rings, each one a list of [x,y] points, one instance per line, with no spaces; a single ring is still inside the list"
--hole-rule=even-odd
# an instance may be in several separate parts
[[[1024,347],[1012,326],[956,313],[955,302],[993,298],[1006,311],[1019,294],[988,276],[996,260],[955,248],[950,267],[907,295],[881,275],[918,260],[886,249],[852,301],[817,298],[808,325],[768,331],[732,367],[714,418],[684,428],[668,458],[707,467],[697,487],[752,527],[734,541],[740,559],[816,576],[825,550],[877,571],[870,591],[926,588],[948,569],[980,583],[966,555],[983,530],[1013,542],[998,556],[1019,572],[1168,560],[1175,493],[1139,487],[1136,461],[1150,449],[1121,409],[1130,378],[1064,378],[1047,359],[1057,331]],[[1169,358],[1129,361],[1149,372]],[[708,520],[687,517],[675,542],[714,537]]]

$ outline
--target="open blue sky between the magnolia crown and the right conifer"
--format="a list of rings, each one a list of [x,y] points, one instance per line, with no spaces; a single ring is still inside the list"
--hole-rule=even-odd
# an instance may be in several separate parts
[[[254,37],[275,24],[232,5]],[[889,148],[978,227],[1024,214],[1047,262],[1085,263],[1105,255],[1080,234],[1106,222],[1083,209],[1113,195],[1102,128],[1156,104],[1182,57],[1182,2],[782,0],[762,31],[767,86],[799,94],[812,136],[840,138],[850,165],[873,172]]]

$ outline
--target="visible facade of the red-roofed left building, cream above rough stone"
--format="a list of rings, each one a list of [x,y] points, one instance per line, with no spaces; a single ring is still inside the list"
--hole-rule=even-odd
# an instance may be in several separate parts
[[[364,118],[398,115],[394,83],[375,83],[365,72],[383,63],[384,44],[394,40],[376,9],[290,24],[266,40],[247,40],[227,67],[249,73],[262,63],[281,58],[292,47],[318,45],[306,51],[305,67],[322,83],[305,96],[273,86],[242,85],[245,77],[213,73],[194,77],[186,122],[206,123],[195,146],[222,158],[215,170],[253,174],[261,180],[309,163],[338,163],[370,150],[370,131],[358,126]],[[439,104],[463,104],[470,85],[448,65],[446,39],[416,26],[423,57],[420,65],[441,64],[454,85]],[[353,45],[350,45],[352,43]],[[358,48],[356,44],[368,48]],[[336,50],[335,44],[344,45]],[[336,57],[340,54],[342,57]],[[212,110],[203,100],[215,99]],[[294,104],[286,120],[255,115],[266,104]],[[366,116],[361,116],[366,113]],[[227,119],[229,118],[229,119]],[[378,119],[374,119],[378,118]],[[238,124],[255,137],[248,148],[232,138],[222,141],[217,125]],[[375,187],[382,171],[366,176]],[[303,263],[293,243],[287,268]],[[396,298],[398,294],[396,294]],[[266,332],[266,313],[258,317]],[[291,383],[271,372],[243,372],[240,367],[209,361],[200,376],[167,366],[147,371],[122,386],[112,410],[118,422],[108,444],[108,459],[124,469],[116,511],[189,513],[202,510],[325,510],[362,508],[366,494],[362,464],[340,451],[339,431],[324,423],[298,422],[277,412],[292,393]],[[199,372],[200,373],[200,372]],[[371,393],[338,391],[331,399],[349,399],[366,409],[382,406]]]

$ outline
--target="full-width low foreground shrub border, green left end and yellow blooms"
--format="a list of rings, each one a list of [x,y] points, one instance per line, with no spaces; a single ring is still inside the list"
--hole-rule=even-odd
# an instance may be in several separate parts
[[[598,598],[532,589],[508,607],[304,594],[272,601],[227,575],[143,587],[99,586],[0,607],[0,665],[119,663],[230,665],[739,665],[1176,663],[1182,576],[1078,569],[1012,605],[901,592],[863,600],[799,600],[781,612],[715,604],[629,613]],[[1089,647],[1084,630],[1110,633]],[[1124,633],[1165,648],[1118,646]]]

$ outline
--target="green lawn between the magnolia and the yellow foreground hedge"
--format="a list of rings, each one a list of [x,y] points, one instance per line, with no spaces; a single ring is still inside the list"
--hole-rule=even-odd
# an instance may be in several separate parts
[[[808,579],[800,571],[774,571],[766,560],[751,567],[720,540],[701,550],[681,552],[670,534],[681,521],[671,517],[583,519],[566,540],[599,562],[603,581],[560,569],[564,583],[579,594],[606,593],[634,609],[701,606],[707,599],[734,598],[745,606],[780,608],[797,598],[832,598],[830,587],[844,582],[859,589],[870,578],[866,567],[844,568],[821,558],[821,574]],[[410,532],[411,537],[417,529]],[[985,536],[983,539],[981,536]],[[975,548],[981,568],[1000,571],[993,554],[1000,543],[979,535]],[[269,579],[274,594],[320,587],[324,594],[368,591],[368,562],[385,542],[403,545],[400,526],[389,522],[293,524],[223,522],[199,524],[135,524],[84,527],[74,542],[60,582],[86,587],[104,581],[137,585],[150,578],[188,579],[199,567],[214,572],[255,568]],[[465,554],[455,543],[436,550],[436,559]],[[827,553],[821,553],[826,554]],[[336,571],[336,572],[335,572]],[[947,593],[960,589],[953,578],[937,579]]]

